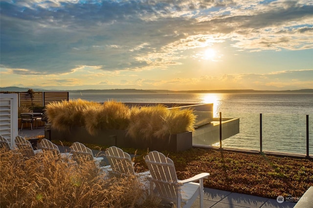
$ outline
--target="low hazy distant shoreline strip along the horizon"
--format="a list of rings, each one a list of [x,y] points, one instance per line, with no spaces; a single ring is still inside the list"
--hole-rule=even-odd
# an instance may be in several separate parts
[[[27,92],[29,88],[1,87],[1,93]],[[33,89],[36,92],[69,92],[69,93],[114,93],[114,94],[176,94],[176,93],[313,93],[313,89],[302,90],[137,90],[137,89],[109,89],[109,90],[44,90]]]

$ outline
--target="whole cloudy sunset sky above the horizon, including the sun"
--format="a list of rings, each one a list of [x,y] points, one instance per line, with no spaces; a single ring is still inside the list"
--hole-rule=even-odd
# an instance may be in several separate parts
[[[0,87],[313,89],[312,0],[0,0]]]

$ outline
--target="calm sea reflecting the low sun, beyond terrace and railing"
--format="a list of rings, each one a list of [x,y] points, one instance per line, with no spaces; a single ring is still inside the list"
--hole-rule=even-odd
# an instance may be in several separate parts
[[[223,140],[223,147],[306,154],[309,115],[310,155],[313,155],[313,94],[80,94],[70,99],[125,103],[213,103],[214,117],[240,118],[240,133]],[[219,145],[219,144],[215,144]]]

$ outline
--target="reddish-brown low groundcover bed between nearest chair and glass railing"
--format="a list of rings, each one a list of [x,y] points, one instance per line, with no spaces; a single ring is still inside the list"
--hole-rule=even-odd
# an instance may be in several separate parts
[[[313,161],[259,153],[193,148],[163,152],[175,163],[179,179],[210,173],[204,187],[276,199],[300,197],[313,186]],[[135,158],[138,170],[147,168],[143,156]]]

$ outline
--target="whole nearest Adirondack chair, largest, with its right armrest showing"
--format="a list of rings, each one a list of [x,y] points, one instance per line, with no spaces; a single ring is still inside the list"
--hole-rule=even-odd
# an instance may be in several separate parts
[[[203,208],[203,179],[209,173],[203,172],[189,179],[178,180],[173,160],[158,151],[149,152],[145,156],[145,162],[152,176],[151,182],[155,184],[156,194],[162,200],[175,203],[178,208],[181,205],[183,208],[190,208],[200,196],[200,207]],[[150,187],[154,186],[151,184]]]

